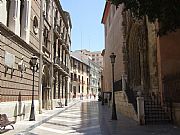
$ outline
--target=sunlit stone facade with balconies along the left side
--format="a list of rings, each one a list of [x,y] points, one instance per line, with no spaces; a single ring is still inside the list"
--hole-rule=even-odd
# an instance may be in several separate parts
[[[29,117],[33,84],[29,61],[33,55],[39,64],[35,113],[53,109],[60,99],[67,104],[69,13],[58,0],[2,0],[0,11],[0,113],[15,120]]]

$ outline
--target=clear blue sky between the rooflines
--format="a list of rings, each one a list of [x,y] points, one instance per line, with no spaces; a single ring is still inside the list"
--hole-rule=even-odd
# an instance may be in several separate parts
[[[71,50],[101,51],[104,48],[101,19],[105,0],[60,0],[60,3],[71,15]]]

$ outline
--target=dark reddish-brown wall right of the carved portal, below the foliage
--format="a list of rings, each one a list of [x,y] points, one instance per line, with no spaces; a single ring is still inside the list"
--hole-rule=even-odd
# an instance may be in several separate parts
[[[180,73],[180,30],[160,37],[157,49],[159,86],[162,91],[164,76]]]

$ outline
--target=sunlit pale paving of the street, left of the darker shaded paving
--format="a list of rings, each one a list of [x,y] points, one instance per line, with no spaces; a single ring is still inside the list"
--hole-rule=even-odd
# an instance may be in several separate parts
[[[101,135],[98,103],[80,102],[29,131],[32,135]]]

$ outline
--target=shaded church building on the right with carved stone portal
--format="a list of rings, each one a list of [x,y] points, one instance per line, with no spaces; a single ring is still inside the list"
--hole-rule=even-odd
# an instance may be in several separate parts
[[[136,97],[143,96],[145,109],[148,100],[151,103],[157,101],[162,111],[169,108],[171,111],[167,115],[178,122],[179,31],[158,37],[157,23],[150,23],[147,17],[137,21],[123,9],[123,5],[115,7],[107,1],[103,13],[103,91],[112,91],[109,56],[113,52],[116,55],[114,85],[117,110],[138,120]],[[172,106],[166,106],[171,103]],[[157,111],[157,114],[160,113]],[[147,116],[145,114],[144,117]]]

